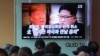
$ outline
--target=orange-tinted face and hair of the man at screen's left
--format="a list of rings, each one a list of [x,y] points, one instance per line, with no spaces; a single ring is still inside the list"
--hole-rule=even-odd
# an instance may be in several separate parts
[[[36,5],[35,10],[31,12],[30,20],[34,25],[46,24],[46,8],[45,5]],[[43,7],[42,7],[43,6]],[[32,7],[34,9],[34,6]],[[37,8],[37,9],[36,9]]]

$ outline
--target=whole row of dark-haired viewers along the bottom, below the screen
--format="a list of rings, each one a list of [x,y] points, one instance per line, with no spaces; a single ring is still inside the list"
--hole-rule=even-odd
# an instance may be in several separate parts
[[[32,53],[29,47],[19,47],[7,44],[0,48],[0,56],[69,56],[61,53],[61,47],[56,42],[50,42],[45,45],[44,40],[38,39],[35,42],[37,51]],[[90,41],[88,46],[80,46],[72,51],[75,56],[97,56],[99,45],[95,41]]]

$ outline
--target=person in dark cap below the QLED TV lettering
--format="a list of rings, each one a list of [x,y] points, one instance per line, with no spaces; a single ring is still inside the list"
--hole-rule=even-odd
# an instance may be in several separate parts
[[[73,51],[76,56],[90,56],[90,50],[87,46],[80,46],[76,51]]]

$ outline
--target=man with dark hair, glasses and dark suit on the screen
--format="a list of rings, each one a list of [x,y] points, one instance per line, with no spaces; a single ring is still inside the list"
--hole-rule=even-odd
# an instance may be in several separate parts
[[[84,9],[84,8],[82,8]],[[59,8],[59,25],[62,29],[67,30],[67,34],[62,34],[65,36],[81,36],[80,38],[85,37],[85,25],[84,23],[77,22],[77,10],[78,4],[63,4]],[[77,38],[77,37],[76,37]]]

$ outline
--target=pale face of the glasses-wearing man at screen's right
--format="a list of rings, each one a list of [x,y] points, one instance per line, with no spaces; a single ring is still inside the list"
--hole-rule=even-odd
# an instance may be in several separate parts
[[[71,15],[68,10],[61,10],[59,19],[60,25],[73,25],[76,22],[76,16]]]

